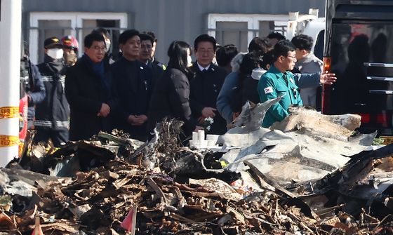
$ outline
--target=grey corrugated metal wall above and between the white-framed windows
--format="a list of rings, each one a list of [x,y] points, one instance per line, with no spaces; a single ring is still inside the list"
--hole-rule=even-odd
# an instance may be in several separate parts
[[[194,38],[207,32],[209,13],[226,14],[288,14],[308,13],[319,8],[324,15],[322,0],[24,0],[25,38],[28,16],[34,11],[51,12],[115,12],[128,13],[128,27],[153,31],[159,40],[157,57],[166,62],[166,49],[178,39],[193,44]]]

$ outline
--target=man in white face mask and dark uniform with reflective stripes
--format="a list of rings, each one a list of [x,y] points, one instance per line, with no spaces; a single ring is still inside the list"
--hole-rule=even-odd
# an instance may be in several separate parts
[[[34,142],[52,140],[55,147],[68,141],[69,105],[65,98],[65,65],[60,39],[53,36],[44,41],[44,62],[38,65],[46,97],[36,105]]]

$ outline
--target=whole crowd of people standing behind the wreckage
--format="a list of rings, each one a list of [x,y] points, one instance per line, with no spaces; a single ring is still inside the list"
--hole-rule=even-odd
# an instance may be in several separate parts
[[[201,34],[193,47],[173,41],[167,65],[154,58],[156,42],[152,32],[128,29],[119,36],[121,54],[115,57],[107,30],[95,29],[77,58],[81,48],[73,36],[46,39],[44,62],[30,66],[34,142],[51,140],[59,147],[114,128],[147,141],[163,119],[184,122],[182,140],[203,129],[222,135],[247,101],[281,97],[262,123],[269,127],[288,116],[290,105],[315,108],[317,88],[335,81],[334,74],[321,72],[307,35],[288,41],[272,32],[255,37],[248,53],[239,53],[236,46],[220,46],[213,36]]]

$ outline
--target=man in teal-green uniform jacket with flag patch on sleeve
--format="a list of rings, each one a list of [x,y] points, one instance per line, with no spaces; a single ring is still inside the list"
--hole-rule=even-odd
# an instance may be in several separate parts
[[[303,105],[293,74],[288,72],[295,66],[295,46],[288,40],[281,40],[273,50],[273,66],[260,78],[258,93],[260,102],[279,96],[282,98],[267,110],[262,122],[262,127],[265,128],[272,126],[276,121],[285,119],[290,105]]]

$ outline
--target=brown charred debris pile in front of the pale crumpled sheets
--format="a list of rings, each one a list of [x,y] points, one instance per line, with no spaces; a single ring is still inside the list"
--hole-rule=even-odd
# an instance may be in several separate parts
[[[265,190],[243,198],[215,178],[180,184],[125,161],[107,167],[77,173],[71,182],[37,180],[32,198],[18,199],[30,201],[27,208],[2,213],[6,222],[0,228],[25,234],[39,216],[44,234],[124,234],[121,221],[134,205],[137,234],[328,234],[332,229],[366,234],[392,225],[393,217],[380,222],[364,212],[359,222],[346,213],[321,220],[283,192]]]

